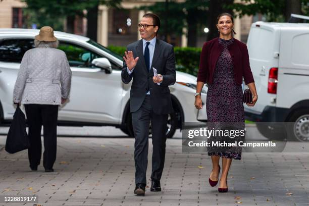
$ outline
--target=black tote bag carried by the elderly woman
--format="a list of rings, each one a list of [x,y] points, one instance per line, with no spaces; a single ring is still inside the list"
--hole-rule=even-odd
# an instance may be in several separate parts
[[[17,105],[7,136],[6,151],[12,154],[28,147],[29,140],[26,132],[26,118],[19,105]]]

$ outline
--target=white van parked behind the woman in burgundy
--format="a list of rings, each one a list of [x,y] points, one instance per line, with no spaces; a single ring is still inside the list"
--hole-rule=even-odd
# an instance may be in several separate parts
[[[247,47],[259,99],[246,119],[294,122],[293,138],[309,141],[309,24],[255,22]]]

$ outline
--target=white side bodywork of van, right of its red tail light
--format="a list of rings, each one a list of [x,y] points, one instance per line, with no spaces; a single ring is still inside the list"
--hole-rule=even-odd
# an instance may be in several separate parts
[[[277,107],[291,108],[309,99],[309,24],[282,28]]]

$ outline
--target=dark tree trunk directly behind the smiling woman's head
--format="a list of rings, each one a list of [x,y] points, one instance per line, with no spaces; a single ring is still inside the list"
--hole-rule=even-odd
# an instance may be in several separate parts
[[[207,40],[211,40],[219,36],[217,28],[217,17],[223,12],[228,12],[234,15],[233,11],[223,9],[223,5],[233,4],[234,0],[210,0],[209,12],[208,12],[208,28],[209,32],[207,35]]]

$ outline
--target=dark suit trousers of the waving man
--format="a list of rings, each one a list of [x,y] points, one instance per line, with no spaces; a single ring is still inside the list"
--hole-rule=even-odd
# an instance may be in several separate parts
[[[150,96],[146,95],[142,106],[132,113],[132,123],[135,135],[134,160],[135,183],[146,184],[148,164],[148,137],[151,121],[152,134],[152,172],[151,180],[160,181],[165,160],[166,128],[168,115],[157,115],[152,112]]]

